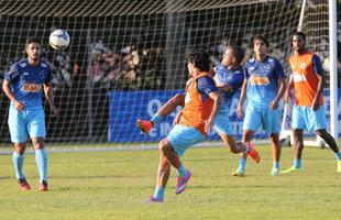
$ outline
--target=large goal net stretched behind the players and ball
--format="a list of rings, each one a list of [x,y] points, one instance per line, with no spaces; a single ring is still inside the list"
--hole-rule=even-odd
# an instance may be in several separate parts
[[[304,31],[321,59],[328,52],[327,0],[309,0]],[[0,1],[0,69],[24,57],[26,36],[42,38],[43,57],[53,68],[57,118],[46,109],[47,141],[53,143],[140,143],[163,139],[175,113],[142,135],[138,118],[150,119],[188,78],[186,55],[205,48],[218,64],[228,44],[242,45],[252,56],[256,34],[270,42],[270,54],[289,73],[290,36],[297,29],[300,0],[103,0]],[[55,29],[72,38],[65,51],[48,46]],[[241,139],[242,121],[231,121]],[[0,136],[10,141],[9,100],[0,97]],[[289,121],[289,120],[288,120]],[[266,138],[257,132],[257,140]],[[215,132],[208,140],[218,140]]]

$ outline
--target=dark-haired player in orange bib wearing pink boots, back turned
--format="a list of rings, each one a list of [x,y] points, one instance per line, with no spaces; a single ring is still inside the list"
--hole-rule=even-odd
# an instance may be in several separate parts
[[[180,162],[185,151],[201,141],[213,125],[222,96],[218,91],[215,80],[208,73],[210,61],[207,53],[196,51],[189,54],[187,65],[190,79],[186,86],[185,108],[179,122],[172,129],[167,138],[160,142],[160,164],[155,193],[146,201],[164,201],[164,191],[170,174],[170,165],[178,172],[178,183],[175,194],[185,190],[191,177],[189,169]]]

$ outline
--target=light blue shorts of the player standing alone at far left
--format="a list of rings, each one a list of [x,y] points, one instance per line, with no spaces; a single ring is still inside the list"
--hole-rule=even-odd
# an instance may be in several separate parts
[[[9,128],[11,141],[23,143],[31,138],[45,138],[45,113],[43,109],[24,109],[16,111],[10,106]]]

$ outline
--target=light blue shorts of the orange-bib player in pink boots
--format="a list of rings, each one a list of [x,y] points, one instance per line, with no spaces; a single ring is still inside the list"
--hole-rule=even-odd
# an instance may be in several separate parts
[[[179,156],[183,156],[189,146],[205,140],[205,136],[198,130],[183,124],[176,124],[167,138],[174,151]]]

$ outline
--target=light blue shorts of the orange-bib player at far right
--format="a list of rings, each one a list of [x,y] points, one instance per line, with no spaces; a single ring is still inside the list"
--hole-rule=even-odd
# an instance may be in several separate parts
[[[312,107],[294,106],[292,127],[307,131],[327,129],[324,106],[320,106],[316,111]]]

